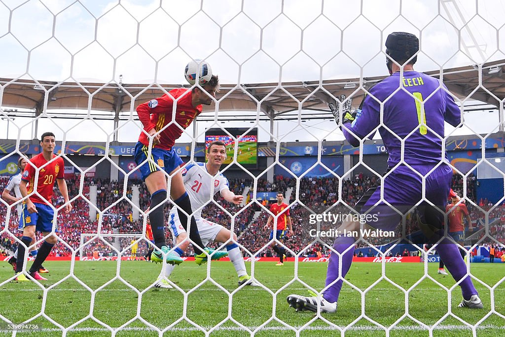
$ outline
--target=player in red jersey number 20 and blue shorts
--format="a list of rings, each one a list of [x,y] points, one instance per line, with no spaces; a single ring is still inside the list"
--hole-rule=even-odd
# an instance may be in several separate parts
[[[35,280],[46,280],[46,278],[40,276],[38,270],[53,246],[58,242],[58,237],[54,234],[54,232],[58,232],[56,224],[53,232],[54,209],[52,199],[55,181],[58,183],[58,188],[66,202],[64,206],[65,213],[67,214],[72,210],[67,183],[64,179],[65,163],[63,158],[57,158],[53,153],[55,146],[56,141],[53,133],[46,132],[42,134],[40,141],[42,152],[31,158],[30,163],[26,165],[19,185],[23,198],[28,195],[29,197],[23,202],[23,209],[19,219],[23,225],[23,237],[18,245],[16,272],[20,273],[23,270],[25,248],[30,245],[32,238],[35,237],[35,230],[42,232],[45,240],[40,245],[37,257],[28,271],[30,278]],[[35,177],[37,171],[38,178]],[[28,278],[24,274],[19,274],[16,280],[28,281]]]

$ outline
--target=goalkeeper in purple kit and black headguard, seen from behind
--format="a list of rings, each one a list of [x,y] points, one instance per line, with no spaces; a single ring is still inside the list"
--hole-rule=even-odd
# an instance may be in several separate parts
[[[360,214],[374,216],[368,219],[376,221],[367,225],[383,231],[394,230],[402,217],[387,203],[406,214],[422,200],[416,210],[418,222],[425,234],[431,233],[431,236],[428,235],[431,242],[436,243],[443,236],[445,201],[452,178],[452,168],[447,164],[446,154],[442,152],[444,121],[455,127],[459,125],[461,109],[443,83],[414,70],[418,51],[419,39],[415,35],[406,32],[389,34],[386,40],[386,64],[390,76],[370,90],[370,96],[365,97],[362,109],[343,113],[341,129],[351,145],[359,146],[360,140],[371,138],[378,128],[389,154],[390,171],[384,178],[384,183],[369,189],[355,207]],[[403,71],[400,71],[400,67]],[[337,123],[338,119],[336,114]],[[404,140],[403,144],[400,139]],[[426,193],[424,199],[423,180]],[[381,189],[384,193],[382,201]],[[346,221],[339,232],[344,233],[344,230],[359,232],[360,224]],[[338,236],[333,248],[341,256],[331,253],[326,286],[321,296],[316,296],[315,293],[312,293],[312,297],[292,294],[287,297],[289,306],[297,311],[317,312],[319,307],[321,312],[335,312],[357,239]],[[471,277],[466,275],[466,265],[458,246],[444,237],[436,249],[452,277],[457,282],[461,280],[463,301],[459,306],[482,308]]]

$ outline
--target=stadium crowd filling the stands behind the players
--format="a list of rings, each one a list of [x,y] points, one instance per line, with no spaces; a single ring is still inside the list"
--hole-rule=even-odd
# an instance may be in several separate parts
[[[5,188],[8,183],[8,177],[0,177],[0,189]],[[246,186],[252,187],[253,181],[248,179],[230,179],[230,190],[237,194],[241,194]],[[342,198],[338,201],[339,184],[342,184]],[[317,229],[316,224],[309,222],[311,214],[322,214],[323,212],[331,212],[333,214],[347,214],[349,209],[356,204],[359,198],[370,187],[377,183],[376,177],[369,177],[362,173],[355,175],[352,179],[339,181],[335,177],[331,178],[302,178],[299,183],[299,202],[295,202],[290,207],[290,215],[293,223],[293,233],[290,233],[285,240],[286,246],[294,252],[302,251],[304,256],[327,256],[328,248],[322,243],[315,240],[310,235],[311,229]],[[69,187],[69,194],[75,197],[79,194],[80,179],[78,176],[67,178]],[[100,256],[116,255],[114,249],[124,249],[130,245],[130,241],[134,236],[127,234],[141,234],[143,221],[142,215],[139,220],[133,220],[133,205],[132,186],[139,187],[139,206],[140,209],[146,209],[149,205],[149,194],[144,185],[138,180],[129,180],[126,186],[126,192],[123,196],[123,181],[109,181],[106,179],[94,179],[85,177],[82,196],[74,199],[73,210],[70,214],[58,214],[58,227],[59,237],[61,241],[65,241],[73,249],[77,249],[80,245],[82,233],[97,233],[98,219],[89,219],[89,186],[97,186],[96,207],[104,210],[102,223],[100,224],[99,232],[102,234],[124,234],[120,238],[120,243],[117,244],[118,239],[107,237],[104,235],[102,240],[95,238],[92,243],[85,245],[84,256],[92,256],[95,251],[99,251]],[[276,176],[273,182],[268,182],[265,179],[258,180],[258,191],[260,192],[275,192],[286,191],[288,187],[293,187],[292,195],[293,200],[296,197],[296,180],[289,177]],[[463,189],[463,180],[461,176],[454,175],[452,186],[456,191]],[[467,196],[476,202],[476,179],[473,175],[469,175],[467,180]],[[274,201],[275,202],[275,201]],[[63,204],[63,197],[55,188],[54,204],[59,207]],[[114,205],[113,205],[114,204]],[[493,206],[487,200],[479,200],[478,203],[484,210],[489,210]],[[219,205],[219,206],[218,206]],[[472,220],[474,220],[473,227],[478,227],[478,220],[483,218],[482,212],[471,203],[467,203],[470,210]],[[270,229],[265,230],[264,226],[267,223],[269,213],[266,211],[270,205],[265,203],[261,205],[259,202],[254,202],[251,206],[242,209],[242,206],[233,205],[224,201],[219,195],[216,196],[215,201],[209,203],[203,210],[203,217],[219,223],[227,228],[230,228],[232,220],[234,223],[234,231],[239,237],[239,243],[248,249],[252,254],[260,251],[260,256],[273,256],[274,252],[268,245],[268,235]],[[168,222],[168,210],[171,206],[167,207],[166,217]],[[266,207],[266,208],[265,208]],[[2,213],[0,214],[0,223],[4,226],[6,221],[7,207],[5,204],[0,206]],[[226,209],[226,211],[224,210]],[[11,208],[12,215],[10,217],[9,230],[11,233],[17,234],[18,215],[16,207]],[[260,211],[259,216],[252,220],[255,213]],[[227,212],[229,212],[228,215]],[[233,217],[233,218],[232,218]],[[98,218],[98,217],[97,217]],[[505,206],[499,205],[494,207],[490,212],[490,218],[495,218],[497,221],[490,226],[490,233],[501,242],[505,239]],[[339,223],[323,223],[320,230],[328,230],[338,227]],[[408,229],[414,228],[415,220],[413,217],[408,221]],[[2,227],[3,228],[3,227]],[[167,242],[172,242],[170,232],[167,230]],[[327,237],[324,243],[331,245],[333,237]],[[86,238],[89,240],[89,238]],[[114,244],[113,241],[116,240]],[[384,242],[378,241],[379,239],[369,239],[372,244],[380,244]],[[109,246],[106,242],[110,243]],[[16,243],[12,235],[4,232],[0,240],[0,254],[7,254],[9,250],[14,250]],[[366,246],[366,243],[360,245]],[[217,247],[215,243],[210,244],[211,247]],[[307,248],[306,248],[307,247]],[[148,250],[148,244],[142,240],[138,246],[138,256],[142,256]],[[64,243],[58,244],[52,251],[52,256],[68,256],[71,254],[71,249]],[[129,251],[125,253],[129,254]],[[186,255],[192,255],[191,247],[185,252]]]

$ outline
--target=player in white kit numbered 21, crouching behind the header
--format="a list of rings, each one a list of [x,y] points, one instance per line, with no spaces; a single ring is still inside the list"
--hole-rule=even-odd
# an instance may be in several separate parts
[[[186,191],[189,194],[189,199],[191,200],[191,208],[195,210],[193,216],[198,226],[201,241],[204,245],[207,245],[207,243],[211,240],[216,242],[227,242],[230,238],[232,238],[232,241],[227,243],[226,250],[228,251],[230,261],[237,272],[238,285],[247,284],[257,286],[258,284],[254,282],[249,275],[247,275],[242,252],[236,243],[236,234],[219,224],[201,217],[201,209],[209,203],[209,201],[212,200],[214,195],[218,192],[221,193],[221,196],[226,201],[233,202],[236,205],[241,203],[243,200],[242,195],[236,195],[230,191],[228,179],[219,172],[221,164],[226,159],[225,144],[220,141],[212,142],[207,149],[206,156],[207,163],[191,163],[182,170],[182,178],[184,180]],[[186,239],[187,234],[181,225],[176,207],[172,207],[170,210],[169,228],[174,238],[174,244],[178,245],[173,252],[175,255],[181,256],[184,250],[188,247],[189,240]],[[200,259],[202,261],[196,261],[196,259]],[[198,264],[205,263],[206,260],[207,258],[195,258],[195,261]],[[172,288],[167,279],[174,268],[174,265],[166,265],[165,272],[163,272],[162,269],[162,272],[155,283],[155,287]]]

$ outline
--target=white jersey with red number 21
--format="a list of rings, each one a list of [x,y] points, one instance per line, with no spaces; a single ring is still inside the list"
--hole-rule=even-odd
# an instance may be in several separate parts
[[[230,189],[228,179],[221,172],[218,172],[215,177],[210,176],[203,162],[190,163],[182,169],[181,173],[193,211],[207,204],[217,192],[221,193]],[[177,207],[172,207],[170,213],[175,212],[177,212]],[[201,208],[193,216],[195,220],[201,219]]]

